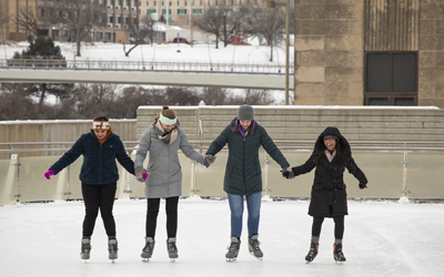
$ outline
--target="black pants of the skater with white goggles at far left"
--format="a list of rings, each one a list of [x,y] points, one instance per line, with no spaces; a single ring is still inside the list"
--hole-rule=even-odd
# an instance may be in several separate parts
[[[105,185],[88,185],[82,183],[82,194],[85,208],[83,236],[92,235],[99,208],[108,236],[115,236],[115,222],[114,216],[112,215],[115,189],[117,183]]]

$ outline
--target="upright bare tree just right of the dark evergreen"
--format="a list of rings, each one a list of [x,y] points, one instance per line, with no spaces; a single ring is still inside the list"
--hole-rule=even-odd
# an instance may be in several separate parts
[[[77,43],[77,57],[80,57],[80,42],[89,38],[94,27],[105,25],[105,12],[99,1],[60,0],[54,2],[54,17],[70,31],[71,40]]]

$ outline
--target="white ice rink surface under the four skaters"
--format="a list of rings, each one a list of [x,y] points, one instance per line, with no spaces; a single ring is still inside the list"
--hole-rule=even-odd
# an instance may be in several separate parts
[[[350,202],[344,254],[332,256],[333,222],[325,219],[320,254],[305,264],[312,218],[309,202],[263,202],[260,242],[262,261],[248,253],[246,229],[236,261],[225,261],[230,237],[228,201],[181,199],[179,259],[171,263],[165,246],[164,203],[159,214],[157,245],[149,263],[144,246],[145,201],[119,199],[114,205],[119,259],[108,260],[101,218],[92,237],[91,259],[80,259],[82,202],[18,204],[0,207],[0,276],[443,276],[444,204]],[[244,217],[245,220],[245,217]]]

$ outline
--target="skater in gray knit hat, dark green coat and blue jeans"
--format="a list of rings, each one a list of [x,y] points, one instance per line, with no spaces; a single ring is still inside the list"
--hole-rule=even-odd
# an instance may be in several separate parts
[[[214,157],[228,144],[229,157],[226,162],[223,189],[228,194],[231,209],[231,244],[225,255],[226,260],[238,258],[241,245],[243,199],[246,199],[249,211],[249,252],[259,259],[263,253],[258,240],[259,219],[262,197],[262,171],[259,161],[259,147],[283,168],[290,166],[281,151],[269,136],[265,129],[254,120],[251,105],[241,105],[238,116],[211,143],[206,156]]]

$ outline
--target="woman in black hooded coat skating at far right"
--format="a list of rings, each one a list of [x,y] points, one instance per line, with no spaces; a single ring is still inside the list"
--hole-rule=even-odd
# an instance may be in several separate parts
[[[360,188],[366,188],[367,178],[357,167],[350,148],[349,142],[336,127],[326,127],[314,144],[310,158],[292,171],[284,172],[286,178],[311,172],[314,167],[314,181],[309,215],[313,216],[312,242],[310,252],[305,256],[307,263],[312,261],[319,249],[322,223],[325,217],[334,220],[333,257],[336,261],[345,261],[342,253],[342,238],[344,235],[344,215],[347,215],[347,201],[343,179],[345,168],[360,182]]]

